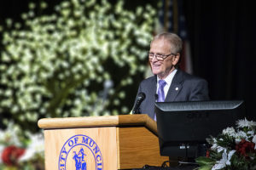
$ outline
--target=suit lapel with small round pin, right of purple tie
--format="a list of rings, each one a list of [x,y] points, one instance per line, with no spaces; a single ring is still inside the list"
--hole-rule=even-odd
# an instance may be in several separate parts
[[[166,102],[172,102],[176,99],[177,94],[183,88],[183,75],[182,72],[177,70],[175,76],[172,79],[171,87],[166,95]]]

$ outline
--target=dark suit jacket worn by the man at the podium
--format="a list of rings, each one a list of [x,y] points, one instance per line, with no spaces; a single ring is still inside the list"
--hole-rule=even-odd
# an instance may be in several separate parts
[[[146,98],[140,105],[139,112],[142,114],[148,114],[148,116],[152,117],[153,119],[154,102],[156,100],[156,83],[156,76],[149,77],[140,83],[137,91],[137,94],[141,92],[146,94]],[[208,99],[208,84],[206,80],[177,70],[172,79],[172,84],[168,90],[165,101],[199,101]]]

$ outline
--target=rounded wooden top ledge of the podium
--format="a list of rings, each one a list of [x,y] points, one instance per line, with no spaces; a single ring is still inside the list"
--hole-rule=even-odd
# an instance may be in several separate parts
[[[65,118],[43,118],[38,127],[43,129],[80,127],[137,127],[144,126],[157,134],[156,122],[148,115],[83,116]]]

